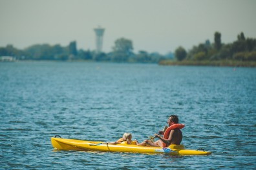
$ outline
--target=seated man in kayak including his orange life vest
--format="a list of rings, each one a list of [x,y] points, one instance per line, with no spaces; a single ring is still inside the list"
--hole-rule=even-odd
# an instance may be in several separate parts
[[[182,131],[181,128],[184,127],[184,124],[178,124],[178,117],[176,115],[171,115],[167,120],[168,128],[166,131],[159,131],[161,137],[158,134],[155,134],[155,137],[160,138],[156,142],[151,140],[144,140],[144,142],[137,144],[138,146],[155,146],[155,147],[167,147],[171,144],[180,145],[182,141]]]

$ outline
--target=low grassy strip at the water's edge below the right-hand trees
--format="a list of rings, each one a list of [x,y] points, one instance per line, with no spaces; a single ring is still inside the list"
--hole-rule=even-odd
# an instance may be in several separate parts
[[[221,60],[221,61],[173,61],[164,60],[158,62],[163,66],[230,66],[230,67],[256,67],[255,61],[234,61],[234,60]]]

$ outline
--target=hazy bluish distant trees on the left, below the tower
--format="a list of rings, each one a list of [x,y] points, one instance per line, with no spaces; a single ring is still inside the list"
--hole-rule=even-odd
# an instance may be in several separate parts
[[[120,38],[114,42],[114,47],[110,53],[97,53],[91,50],[77,50],[76,41],[70,42],[69,46],[56,44],[35,44],[18,50],[12,45],[0,47],[0,56],[12,56],[17,60],[53,60],[53,61],[109,61],[109,62],[147,62],[157,63],[162,59],[173,57],[170,53],[166,56],[160,53],[147,53],[140,51],[133,52],[133,42],[129,39]]]

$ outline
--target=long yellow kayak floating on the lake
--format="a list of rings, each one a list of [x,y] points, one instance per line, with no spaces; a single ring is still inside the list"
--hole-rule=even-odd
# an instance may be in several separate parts
[[[185,149],[183,145],[171,145],[169,147],[136,146],[136,144],[108,144],[100,141],[76,140],[67,138],[51,138],[54,149],[75,151],[103,151],[103,152],[127,152],[127,153],[164,153],[169,155],[210,155],[209,151]]]

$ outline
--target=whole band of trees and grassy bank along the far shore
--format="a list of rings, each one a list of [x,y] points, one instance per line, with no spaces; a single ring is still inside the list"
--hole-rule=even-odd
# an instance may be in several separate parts
[[[256,67],[256,39],[245,37],[241,32],[237,40],[228,44],[221,42],[221,33],[214,33],[214,41],[209,39],[189,50],[182,46],[175,52],[162,55],[158,52],[148,53],[140,50],[133,52],[133,41],[125,38],[114,42],[112,52],[96,52],[94,50],[78,50],[76,41],[68,46],[59,44],[34,44],[19,50],[8,44],[0,47],[1,61],[87,61],[87,62],[129,62],[156,63],[161,66],[233,66]]]

